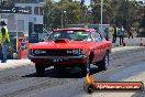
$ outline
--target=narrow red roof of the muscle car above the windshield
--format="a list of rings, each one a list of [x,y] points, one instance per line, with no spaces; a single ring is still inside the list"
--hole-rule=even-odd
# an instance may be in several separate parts
[[[94,29],[87,29],[87,28],[66,28],[66,29],[54,29],[54,31],[96,31]]]

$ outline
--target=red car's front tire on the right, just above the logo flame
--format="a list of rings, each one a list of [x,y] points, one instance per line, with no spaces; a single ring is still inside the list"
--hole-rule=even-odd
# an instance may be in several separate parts
[[[90,73],[90,60],[87,61],[86,64],[83,64],[81,67],[82,75],[86,76],[88,73]]]

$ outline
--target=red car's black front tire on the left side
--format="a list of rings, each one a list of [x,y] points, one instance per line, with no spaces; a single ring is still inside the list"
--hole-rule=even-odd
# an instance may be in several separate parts
[[[45,67],[43,64],[35,64],[36,75],[43,76],[45,73]]]

